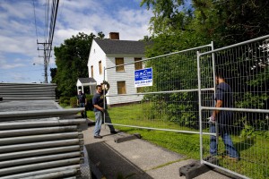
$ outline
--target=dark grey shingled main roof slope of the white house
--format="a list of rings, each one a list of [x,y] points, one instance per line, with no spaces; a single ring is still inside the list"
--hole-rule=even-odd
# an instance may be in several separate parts
[[[115,40],[115,39],[94,39],[106,55],[144,55],[145,47],[152,42]]]

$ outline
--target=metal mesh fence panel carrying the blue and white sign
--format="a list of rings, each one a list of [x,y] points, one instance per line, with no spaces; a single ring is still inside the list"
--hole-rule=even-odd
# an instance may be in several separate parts
[[[131,59],[105,68],[104,80],[110,84],[106,99],[118,110],[113,124],[199,133],[196,51],[206,52],[212,47],[209,44],[139,61]],[[134,77],[143,74],[134,75],[134,71],[146,68],[152,68],[152,86],[135,88]]]

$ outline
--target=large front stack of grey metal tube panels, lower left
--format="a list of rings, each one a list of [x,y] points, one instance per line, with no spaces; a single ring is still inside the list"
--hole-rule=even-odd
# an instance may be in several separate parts
[[[0,111],[0,178],[82,177],[86,120],[70,117],[80,111]]]

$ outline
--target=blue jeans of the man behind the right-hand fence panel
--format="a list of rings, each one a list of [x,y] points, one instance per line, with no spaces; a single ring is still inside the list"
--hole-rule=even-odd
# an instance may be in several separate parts
[[[210,132],[213,132],[213,133],[216,132],[215,124],[210,125]],[[239,158],[239,154],[237,150],[233,147],[229,133],[225,132],[225,130],[220,130],[220,134],[221,134],[222,141],[224,142],[225,149],[228,152],[228,155],[231,158]],[[213,135],[210,136],[210,154],[213,156],[218,154],[218,145],[216,142],[216,136],[213,136]]]

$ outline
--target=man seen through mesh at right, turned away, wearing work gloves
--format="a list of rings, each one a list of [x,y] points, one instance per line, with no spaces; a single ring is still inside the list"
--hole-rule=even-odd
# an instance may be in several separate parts
[[[233,107],[233,98],[232,91],[230,89],[230,85],[227,84],[221,74],[216,75],[216,96],[215,107]],[[222,141],[225,144],[227,155],[225,158],[229,158],[233,161],[239,160],[239,154],[237,150],[234,148],[233,143],[230,139],[230,125],[232,124],[232,111],[224,111],[224,110],[213,110],[213,114],[210,117],[213,124],[210,126],[211,132],[216,132],[215,121],[218,122],[219,132],[222,138]],[[211,136],[210,138],[210,153],[215,156],[218,154],[218,146],[216,143],[216,137]]]

